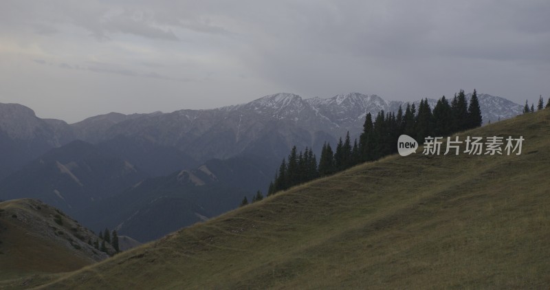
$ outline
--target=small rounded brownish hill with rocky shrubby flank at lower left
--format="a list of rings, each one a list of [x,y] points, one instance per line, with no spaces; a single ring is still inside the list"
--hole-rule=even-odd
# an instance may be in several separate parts
[[[0,203],[0,280],[74,271],[107,258],[87,245],[96,235],[34,199]]]

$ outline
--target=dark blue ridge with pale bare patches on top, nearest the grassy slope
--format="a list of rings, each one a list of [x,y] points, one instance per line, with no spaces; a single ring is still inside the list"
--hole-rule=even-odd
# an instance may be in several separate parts
[[[115,228],[146,242],[236,208],[248,192],[201,166],[146,179],[78,215],[93,228]]]

